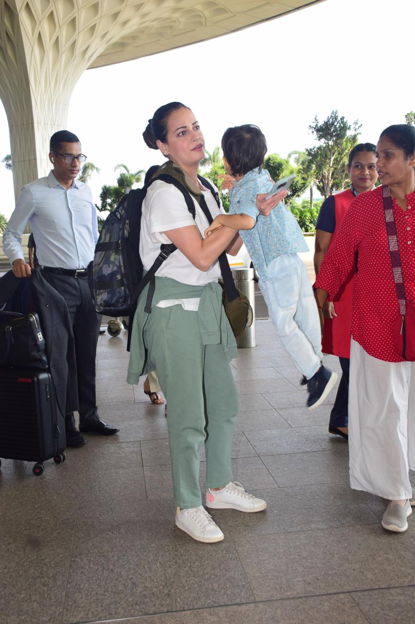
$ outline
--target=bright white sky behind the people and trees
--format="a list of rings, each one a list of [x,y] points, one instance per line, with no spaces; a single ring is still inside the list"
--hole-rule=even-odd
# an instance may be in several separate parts
[[[206,148],[230,125],[259,125],[269,152],[287,156],[313,144],[308,126],[338,109],[359,119],[362,142],[404,123],[415,110],[414,0],[326,0],[302,11],[194,46],[88,70],[72,95],[67,129],[100,167],[90,181],[115,183],[130,170],[163,162],[141,134],[162,104],[193,109]],[[10,151],[0,104],[0,158]],[[12,175],[0,166],[0,212],[13,208]]]

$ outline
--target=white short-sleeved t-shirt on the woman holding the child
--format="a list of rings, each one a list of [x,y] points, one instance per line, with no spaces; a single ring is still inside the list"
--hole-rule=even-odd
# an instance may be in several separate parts
[[[202,189],[204,198],[212,218],[224,213],[223,208],[217,206],[216,200],[209,189]],[[166,230],[175,230],[187,225],[196,225],[202,236],[209,226],[203,210],[192,197],[196,210],[196,219],[189,213],[183,194],[174,187],[161,180],[153,182],[141,208],[140,256],[143,267],[148,271],[160,253],[161,243],[168,245],[171,240],[165,234]],[[204,286],[221,277],[219,262],[216,260],[207,271],[201,271],[194,266],[186,256],[176,249],[160,266],[156,275],[168,277],[191,286]],[[165,300],[159,306],[169,306],[180,303],[185,310],[197,310],[199,299]]]

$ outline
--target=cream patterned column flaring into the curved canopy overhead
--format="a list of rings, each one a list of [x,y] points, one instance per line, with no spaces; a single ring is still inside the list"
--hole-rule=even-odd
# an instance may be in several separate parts
[[[0,0],[0,97],[16,193],[47,172],[50,134],[64,127],[70,95],[88,67],[211,39],[308,4],[314,2]]]

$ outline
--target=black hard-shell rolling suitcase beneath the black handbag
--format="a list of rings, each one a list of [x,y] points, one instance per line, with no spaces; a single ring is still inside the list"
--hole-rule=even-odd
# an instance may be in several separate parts
[[[45,460],[65,461],[65,446],[65,418],[50,373],[0,369],[0,457],[36,462],[32,470],[40,475]]]

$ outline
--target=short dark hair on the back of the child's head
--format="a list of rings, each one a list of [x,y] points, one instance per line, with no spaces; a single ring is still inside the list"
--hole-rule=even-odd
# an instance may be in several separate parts
[[[223,155],[232,175],[245,175],[264,166],[267,142],[257,125],[244,124],[228,128],[222,137]]]

